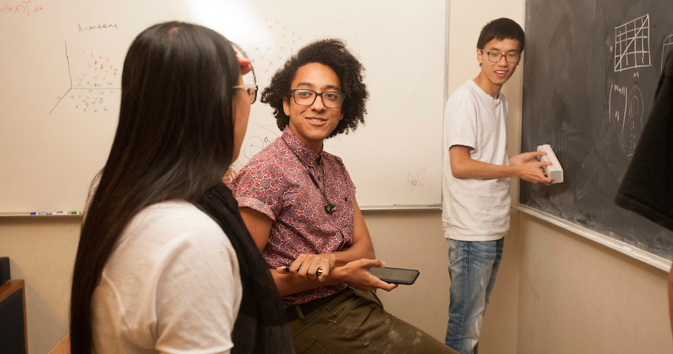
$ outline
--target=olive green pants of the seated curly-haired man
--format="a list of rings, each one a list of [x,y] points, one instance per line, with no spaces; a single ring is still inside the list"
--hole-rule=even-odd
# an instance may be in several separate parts
[[[455,353],[444,343],[383,310],[373,292],[344,294],[290,321],[295,349],[303,353]]]

